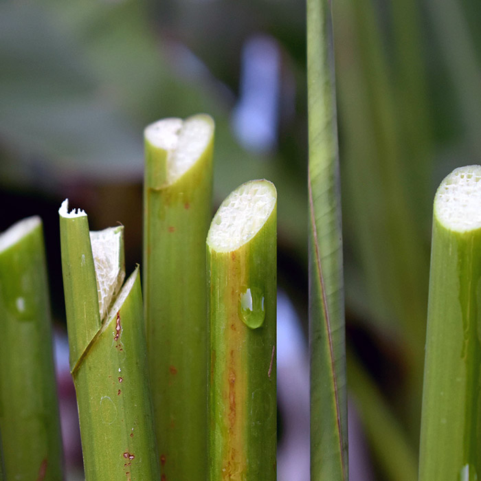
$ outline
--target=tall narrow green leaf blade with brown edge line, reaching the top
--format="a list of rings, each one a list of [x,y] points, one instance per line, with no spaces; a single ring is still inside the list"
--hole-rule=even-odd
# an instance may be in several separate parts
[[[307,2],[311,480],[348,479],[342,226],[331,3]]]

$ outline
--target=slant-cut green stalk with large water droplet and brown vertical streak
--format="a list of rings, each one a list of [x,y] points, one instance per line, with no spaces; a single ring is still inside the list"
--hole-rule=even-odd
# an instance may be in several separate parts
[[[276,188],[250,181],[207,238],[208,480],[276,480]]]

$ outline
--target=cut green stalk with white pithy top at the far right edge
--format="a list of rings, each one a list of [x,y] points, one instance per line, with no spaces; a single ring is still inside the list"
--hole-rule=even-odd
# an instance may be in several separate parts
[[[420,481],[481,473],[481,166],[457,168],[434,199]]]

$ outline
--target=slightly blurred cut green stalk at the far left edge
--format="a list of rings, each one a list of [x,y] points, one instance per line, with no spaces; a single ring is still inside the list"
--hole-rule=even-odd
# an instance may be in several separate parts
[[[62,480],[52,320],[38,217],[0,236],[0,326],[5,480]]]

